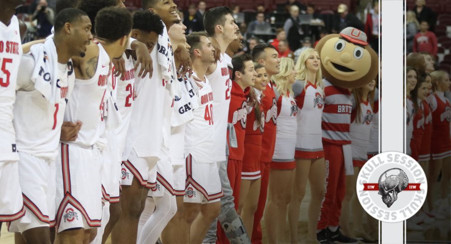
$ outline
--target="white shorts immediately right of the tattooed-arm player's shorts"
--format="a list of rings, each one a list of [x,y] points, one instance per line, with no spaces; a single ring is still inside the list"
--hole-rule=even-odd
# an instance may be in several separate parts
[[[111,157],[108,149],[100,152],[102,196],[105,201],[118,203],[121,193],[121,163]]]

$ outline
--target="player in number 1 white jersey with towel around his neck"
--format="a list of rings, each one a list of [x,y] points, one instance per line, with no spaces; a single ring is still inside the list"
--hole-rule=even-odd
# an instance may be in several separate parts
[[[54,37],[22,56],[14,127],[27,212],[12,222],[9,230],[22,233],[27,243],[50,243],[49,227],[55,224],[55,159],[66,101],[75,79],[70,58],[84,53],[92,38],[90,28],[85,12],[68,8],[56,16]],[[39,62],[40,55],[45,62]],[[49,90],[52,87],[54,90]]]

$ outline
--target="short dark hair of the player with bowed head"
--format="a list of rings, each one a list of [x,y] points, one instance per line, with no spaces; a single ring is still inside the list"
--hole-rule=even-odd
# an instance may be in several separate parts
[[[163,22],[160,16],[149,10],[136,11],[133,14],[133,29],[145,32],[155,32],[159,35],[163,34]]]

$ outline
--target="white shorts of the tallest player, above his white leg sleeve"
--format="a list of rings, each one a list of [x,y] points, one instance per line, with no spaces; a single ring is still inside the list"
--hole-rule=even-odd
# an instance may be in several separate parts
[[[171,157],[166,148],[162,148],[160,160],[157,162],[157,183],[151,188],[149,197],[163,197],[165,189],[173,196],[176,195],[174,190],[174,168],[171,164]]]

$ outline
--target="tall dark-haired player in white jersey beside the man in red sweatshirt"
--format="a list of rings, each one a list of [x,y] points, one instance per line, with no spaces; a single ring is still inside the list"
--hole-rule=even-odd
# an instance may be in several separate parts
[[[207,78],[212,82],[214,94],[214,121],[215,121],[215,158],[219,163],[219,172],[221,184],[224,190],[224,197],[221,199],[221,214],[218,217],[222,226],[227,224],[230,240],[248,240],[247,234],[242,227],[242,221],[236,214],[232,190],[227,177],[227,158],[226,158],[226,131],[228,106],[230,104],[230,91],[232,82],[230,71],[232,69],[231,58],[226,55],[227,46],[238,38],[238,27],[233,21],[232,11],[226,7],[214,7],[209,9],[204,16],[204,26],[210,37],[218,42],[221,55],[217,63],[212,64],[207,70]],[[195,222],[196,223],[196,222]],[[217,221],[211,224],[204,242],[216,242]],[[244,236],[241,238],[240,236]]]

